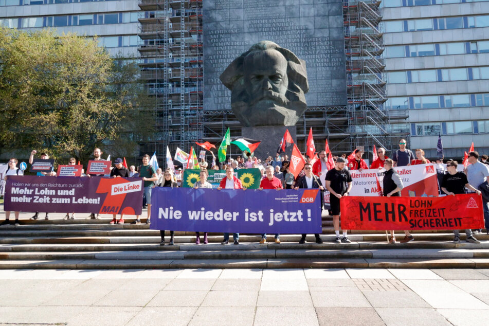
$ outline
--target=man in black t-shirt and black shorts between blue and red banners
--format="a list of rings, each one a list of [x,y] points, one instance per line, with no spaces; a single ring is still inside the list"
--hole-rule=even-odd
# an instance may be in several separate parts
[[[348,196],[352,189],[352,177],[350,171],[345,169],[347,160],[338,157],[335,167],[326,173],[326,189],[330,192],[331,211],[333,212],[333,227],[336,233],[335,243],[351,243],[347,238],[347,231],[343,230],[343,238],[339,237],[339,201],[342,196]]]

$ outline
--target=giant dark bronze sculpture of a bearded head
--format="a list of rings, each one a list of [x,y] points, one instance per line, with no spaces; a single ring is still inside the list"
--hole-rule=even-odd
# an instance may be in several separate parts
[[[231,107],[244,126],[295,125],[309,91],[305,62],[274,42],[259,42],[222,73]]]

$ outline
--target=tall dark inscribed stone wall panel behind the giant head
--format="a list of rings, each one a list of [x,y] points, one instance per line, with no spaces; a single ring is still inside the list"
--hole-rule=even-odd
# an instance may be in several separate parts
[[[346,105],[341,0],[205,0],[204,110],[231,110],[219,76],[264,40],[306,62],[307,106]]]

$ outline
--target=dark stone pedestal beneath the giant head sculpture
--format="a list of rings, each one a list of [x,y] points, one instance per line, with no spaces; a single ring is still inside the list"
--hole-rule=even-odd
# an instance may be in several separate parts
[[[241,129],[241,137],[261,140],[260,145],[253,154],[264,161],[268,156],[275,157],[277,148],[287,129],[295,142],[297,138],[297,129],[295,125],[243,127]]]

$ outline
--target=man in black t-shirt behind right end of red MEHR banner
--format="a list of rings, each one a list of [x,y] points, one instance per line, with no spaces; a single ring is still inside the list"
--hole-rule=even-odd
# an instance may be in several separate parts
[[[467,180],[467,176],[463,172],[458,172],[457,171],[457,161],[454,160],[449,160],[446,162],[446,170],[447,174],[443,176],[442,180],[442,191],[446,193],[449,196],[455,196],[456,194],[464,194],[465,193],[465,187],[467,189],[470,189],[472,191],[475,191],[478,195],[480,195],[480,191],[477,190],[476,188],[472,187]],[[459,230],[454,230],[454,242],[455,243],[460,243],[460,233]],[[465,241],[471,242],[471,243],[480,243],[479,240],[474,238],[472,235],[472,230],[466,229],[465,230],[466,238]]]

